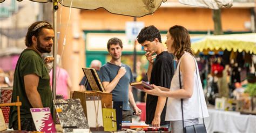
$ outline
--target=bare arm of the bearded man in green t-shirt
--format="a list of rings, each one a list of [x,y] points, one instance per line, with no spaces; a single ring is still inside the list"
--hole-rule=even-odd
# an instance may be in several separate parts
[[[33,108],[43,108],[40,94],[37,91],[39,76],[35,74],[25,75],[24,84],[26,95]]]

